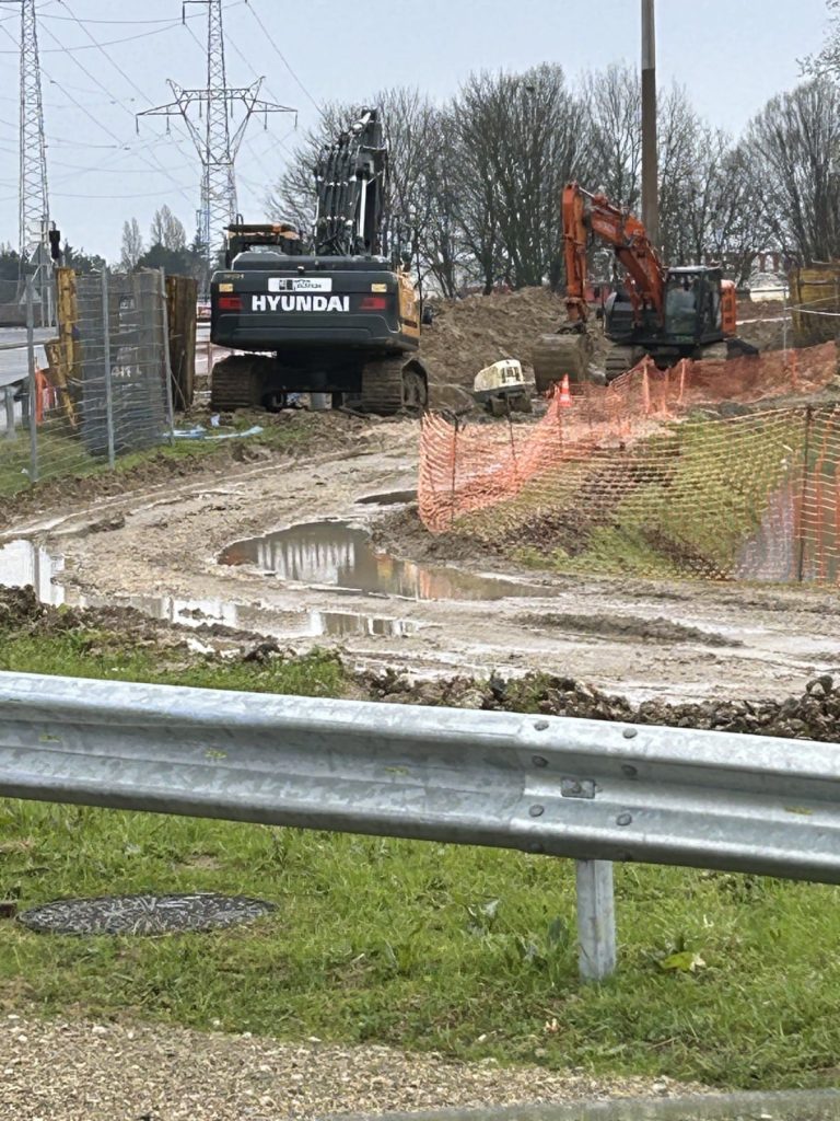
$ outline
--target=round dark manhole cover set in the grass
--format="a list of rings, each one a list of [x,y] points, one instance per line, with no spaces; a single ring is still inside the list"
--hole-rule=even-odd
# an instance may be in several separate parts
[[[274,910],[262,899],[198,892],[189,896],[105,896],[58,899],[18,915],[39,934],[167,934],[252,923]]]

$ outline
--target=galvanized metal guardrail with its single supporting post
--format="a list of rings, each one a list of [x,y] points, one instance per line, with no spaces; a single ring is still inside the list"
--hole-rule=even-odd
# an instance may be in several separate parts
[[[578,860],[581,971],[610,861],[840,883],[840,745],[0,674],[0,795]]]

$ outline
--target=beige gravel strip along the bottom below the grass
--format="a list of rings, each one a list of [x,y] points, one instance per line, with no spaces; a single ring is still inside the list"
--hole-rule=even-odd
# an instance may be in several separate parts
[[[3,1121],[280,1121],[697,1090],[666,1078],[456,1064],[315,1039],[278,1044],[169,1027],[0,1020]]]

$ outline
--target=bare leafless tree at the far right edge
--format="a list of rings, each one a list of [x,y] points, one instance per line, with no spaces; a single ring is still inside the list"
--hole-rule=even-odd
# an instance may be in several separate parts
[[[803,263],[840,253],[840,89],[813,78],[773,98],[747,131],[767,226]]]

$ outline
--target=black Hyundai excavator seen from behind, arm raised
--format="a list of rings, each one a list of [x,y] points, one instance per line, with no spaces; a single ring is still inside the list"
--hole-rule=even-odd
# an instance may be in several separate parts
[[[299,392],[383,415],[426,407],[420,299],[410,248],[391,237],[388,176],[383,123],[367,109],[321,152],[309,244],[288,223],[228,228],[211,339],[249,353],[214,367],[214,409],[277,410]]]

